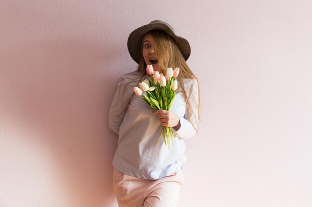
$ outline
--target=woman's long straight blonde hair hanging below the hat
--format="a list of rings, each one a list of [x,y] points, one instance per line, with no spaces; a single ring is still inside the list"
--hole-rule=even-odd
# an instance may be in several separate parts
[[[151,36],[154,39],[154,46],[155,46],[155,53],[158,59],[158,71],[160,73],[165,74],[167,68],[180,68],[180,73],[177,76],[177,81],[179,84],[179,90],[182,93],[182,98],[186,104],[186,114],[187,117],[190,117],[190,112],[193,113],[194,110],[197,110],[198,119],[199,119],[199,108],[200,108],[200,96],[199,96],[199,84],[198,79],[195,76],[195,74],[191,71],[191,69],[186,64],[183,55],[178,48],[177,44],[175,43],[174,39],[168,35],[166,32],[163,32],[161,30],[152,30],[147,34],[151,34]],[[141,51],[143,49],[143,41],[141,46]],[[140,78],[141,82],[146,75],[146,63],[144,61],[143,55],[141,55],[141,60],[139,62],[139,66],[137,68],[137,71],[142,72],[142,77]],[[184,86],[184,79],[195,79],[197,81],[198,85],[198,94],[193,97],[198,97],[198,100],[193,100],[198,103],[198,105],[193,109],[191,107],[190,101],[187,97],[185,86]],[[139,83],[138,83],[139,84]],[[131,99],[134,97],[134,95],[131,97]],[[131,101],[130,99],[130,101]],[[198,125],[198,123],[196,123]],[[195,128],[195,126],[193,126]],[[197,131],[197,128],[195,128]]]

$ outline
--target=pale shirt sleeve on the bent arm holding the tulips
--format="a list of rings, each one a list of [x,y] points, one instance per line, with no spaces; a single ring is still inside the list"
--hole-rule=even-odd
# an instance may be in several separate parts
[[[192,79],[189,90],[187,91],[187,98],[190,103],[190,108],[186,107],[188,110],[189,117],[185,113],[184,116],[179,117],[180,119],[180,129],[176,131],[176,134],[179,138],[192,138],[198,131],[198,83],[197,80]]]

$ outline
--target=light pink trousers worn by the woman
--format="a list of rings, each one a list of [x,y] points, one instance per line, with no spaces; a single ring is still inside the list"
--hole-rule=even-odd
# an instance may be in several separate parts
[[[158,180],[125,175],[114,168],[114,191],[119,207],[177,207],[182,171]]]

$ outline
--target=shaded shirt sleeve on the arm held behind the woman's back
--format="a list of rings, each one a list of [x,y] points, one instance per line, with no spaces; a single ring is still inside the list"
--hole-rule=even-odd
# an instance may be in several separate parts
[[[117,84],[116,92],[109,111],[109,127],[119,135],[119,128],[124,121],[131,94],[126,90],[127,78],[122,76]],[[127,87],[128,88],[128,87]]]

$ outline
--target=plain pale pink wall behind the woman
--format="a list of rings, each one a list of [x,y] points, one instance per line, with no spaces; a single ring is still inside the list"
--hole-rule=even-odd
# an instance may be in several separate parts
[[[129,33],[154,19],[189,40],[201,83],[180,207],[311,207],[311,7],[1,0],[0,207],[117,207],[108,110]]]

